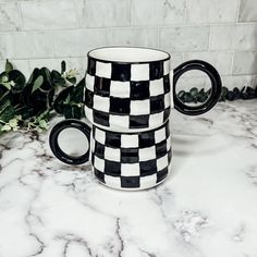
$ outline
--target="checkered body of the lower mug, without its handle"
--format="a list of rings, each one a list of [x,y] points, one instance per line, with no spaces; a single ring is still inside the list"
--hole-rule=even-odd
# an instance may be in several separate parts
[[[91,162],[97,179],[108,186],[144,189],[163,181],[171,161],[169,121],[137,134],[93,127]]]

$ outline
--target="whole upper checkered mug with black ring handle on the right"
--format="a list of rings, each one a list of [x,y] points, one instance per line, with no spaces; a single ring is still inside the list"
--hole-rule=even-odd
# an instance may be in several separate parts
[[[156,49],[105,47],[87,56],[85,115],[105,130],[152,130],[169,119],[172,102],[178,111],[196,115],[210,110],[221,94],[219,73],[204,61],[184,62],[172,72],[170,54]],[[203,71],[211,81],[210,96],[200,106],[186,106],[175,94],[178,79],[189,70]]]

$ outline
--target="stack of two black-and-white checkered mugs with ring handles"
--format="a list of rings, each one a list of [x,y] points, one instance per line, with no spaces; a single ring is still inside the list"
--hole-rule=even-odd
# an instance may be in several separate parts
[[[134,47],[106,47],[88,52],[85,115],[91,123],[64,120],[50,133],[57,158],[70,164],[91,161],[96,178],[119,189],[145,189],[161,183],[170,172],[171,108],[196,115],[210,110],[221,94],[217,70],[207,62],[188,61],[170,71],[168,52]],[[179,77],[199,70],[211,81],[208,100],[186,106],[175,95]],[[68,128],[82,131],[88,139],[86,154],[66,155],[58,144]]]

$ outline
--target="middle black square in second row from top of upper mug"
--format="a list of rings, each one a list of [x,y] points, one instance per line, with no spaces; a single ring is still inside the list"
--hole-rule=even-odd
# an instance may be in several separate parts
[[[131,82],[131,99],[144,100],[150,96],[149,81]]]

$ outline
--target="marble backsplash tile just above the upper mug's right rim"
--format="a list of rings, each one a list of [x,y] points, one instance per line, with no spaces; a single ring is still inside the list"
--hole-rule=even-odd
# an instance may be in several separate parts
[[[171,51],[207,50],[209,29],[209,26],[160,28],[160,47]]]

